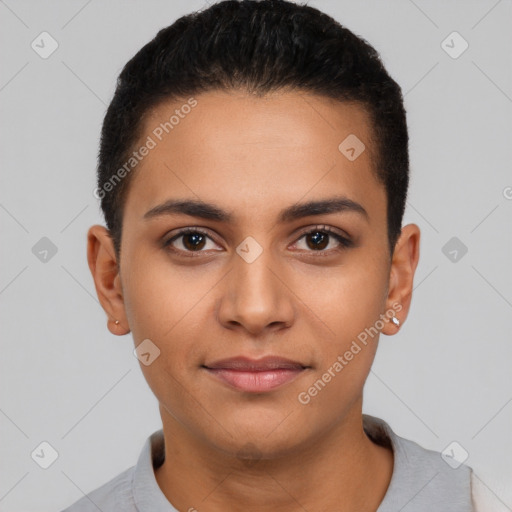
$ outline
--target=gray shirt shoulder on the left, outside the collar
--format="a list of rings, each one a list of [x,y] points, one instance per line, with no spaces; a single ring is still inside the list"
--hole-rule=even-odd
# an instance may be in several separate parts
[[[132,494],[135,466],[126,469],[61,512],[136,512]]]

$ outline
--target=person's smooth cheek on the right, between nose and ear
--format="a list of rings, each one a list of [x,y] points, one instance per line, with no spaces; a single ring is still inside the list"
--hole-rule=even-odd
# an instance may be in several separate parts
[[[370,371],[384,313],[387,274],[375,259],[347,264],[308,290],[307,305],[319,318],[322,335],[315,341],[318,369],[311,385],[318,382],[317,400],[351,400]],[[380,265],[380,267],[378,266]]]

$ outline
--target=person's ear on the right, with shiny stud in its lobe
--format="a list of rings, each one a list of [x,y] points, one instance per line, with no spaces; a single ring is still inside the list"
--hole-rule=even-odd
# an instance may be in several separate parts
[[[386,311],[395,312],[387,315],[388,318],[396,316],[403,325],[411,306],[414,273],[420,257],[420,228],[416,224],[408,224],[402,228],[398,238],[389,273],[388,297]],[[391,320],[387,321],[382,332],[396,334],[400,328]]]

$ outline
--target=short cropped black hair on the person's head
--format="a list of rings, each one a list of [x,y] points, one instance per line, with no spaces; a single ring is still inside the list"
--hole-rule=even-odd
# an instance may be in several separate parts
[[[291,89],[364,108],[372,123],[373,172],[386,189],[392,255],[409,184],[408,133],[401,89],[379,54],[306,4],[225,0],[161,29],[118,77],[103,122],[95,192],[117,256],[133,174],[126,172],[126,162],[141,136],[145,114],[163,101],[240,89],[260,97]]]

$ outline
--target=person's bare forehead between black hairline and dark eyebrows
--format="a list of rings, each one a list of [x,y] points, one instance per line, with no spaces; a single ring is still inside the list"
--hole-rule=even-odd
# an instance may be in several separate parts
[[[126,208],[195,197],[261,215],[263,203],[281,210],[343,194],[371,210],[384,197],[371,139],[360,105],[303,92],[213,91],[164,102],[145,116],[139,145],[152,149],[137,164]]]

